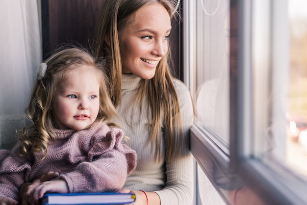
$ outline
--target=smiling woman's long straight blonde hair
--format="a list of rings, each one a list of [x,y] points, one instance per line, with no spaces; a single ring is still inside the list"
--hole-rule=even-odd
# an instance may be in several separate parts
[[[167,10],[170,18],[177,14],[177,1],[170,0],[108,0],[105,2],[97,33],[97,56],[106,57],[109,67],[106,71],[111,100],[115,106],[121,103],[122,64],[119,45],[119,31],[132,24],[135,12],[145,5],[158,2]],[[156,67],[152,79],[141,79],[136,100],[145,102],[152,109],[152,127],[148,143],[155,147],[155,160],[161,159],[161,124],[164,130],[167,160],[180,154],[182,147],[182,124],[179,100],[169,67],[170,49]],[[144,89],[145,88],[145,89]],[[142,104],[142,103],[141,103]],[[162,122],[163,121],[163,122]]]

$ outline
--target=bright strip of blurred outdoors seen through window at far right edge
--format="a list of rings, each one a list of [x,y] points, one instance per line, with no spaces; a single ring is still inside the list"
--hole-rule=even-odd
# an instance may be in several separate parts
[[[290,79],[286,163],[307,176],[307,1],[289,0]]]

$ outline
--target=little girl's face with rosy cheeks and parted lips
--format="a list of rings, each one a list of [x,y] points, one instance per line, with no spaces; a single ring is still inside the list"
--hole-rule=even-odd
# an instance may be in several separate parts
[[[83,65],[69,71],[60,83],[52,102],[57,128],[81,130],[90,126],[99,112],[99,79],[97,69]]]

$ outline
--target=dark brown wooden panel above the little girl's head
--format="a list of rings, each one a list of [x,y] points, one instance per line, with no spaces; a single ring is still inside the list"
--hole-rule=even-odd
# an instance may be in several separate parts
[[[44,57],[62,44],[92,45],[104,1],[42,0],[42,15],[47,15],[42,18],[43,35],[48,36],[43,38]]]

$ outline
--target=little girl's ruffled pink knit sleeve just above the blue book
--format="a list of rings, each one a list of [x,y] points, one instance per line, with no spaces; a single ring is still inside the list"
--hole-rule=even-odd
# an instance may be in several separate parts
[[[112,128],[105,134],[96,133],[88,160],[75,171],[63,174],[70,192],[119,191],[127,176],[136,167],[136,153],[121,143],[123,131]]]

